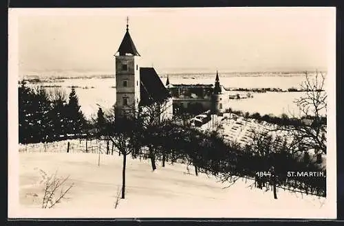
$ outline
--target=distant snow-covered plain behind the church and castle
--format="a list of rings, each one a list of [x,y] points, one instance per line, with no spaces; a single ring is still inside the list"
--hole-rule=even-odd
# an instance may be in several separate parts
[[[213,78],[214,77],[214,78]],[[213,84],[215,76],[209,78],[183,78],[183,76],[169,76],[170,82],[173,84]],[[161,78],[165,84],[166,78]],[[305,79],[304,76],[231,76],[221,77],[220,82],[224,87],[237,88],[281,88],[288,89],[290,87],[299,87],[299,84]],[[58,81],[58,80],[56,80]],[[63,79],[63,82],[47,82],[42,85],[58,85],[65,89],[69,94],[72,85],[81,87],[76,88],[76,94],[79,98],[81,110],[87,118],[96,115],[98,105],[104,109],[110,109],[116,102],[116,86],[115,78],[78,78]],[[83,89],[88,87],[89,89]],[[94,88],[92,88],[94,87]],[[50,88],[49,88],[50,89]],[[302,93],[252,93],[254,98],[230,100],[230,108],[233,110],[248,111],[249,113],[258,112],[260,114],[281,115],[281,113],[299,113],[297,106],[293,103],[295,98],[299,98]]]

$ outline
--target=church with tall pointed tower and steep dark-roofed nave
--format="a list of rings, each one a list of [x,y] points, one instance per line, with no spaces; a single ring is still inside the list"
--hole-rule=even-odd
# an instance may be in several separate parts
[[[128,22],[129,19],[127,19]],[[160,119],[172,117],[173,104],[153,67],[141,67],[140,54],[129,34],[129,25],[120,43],[116,58],[116,118],[147,111],[154,107]]]

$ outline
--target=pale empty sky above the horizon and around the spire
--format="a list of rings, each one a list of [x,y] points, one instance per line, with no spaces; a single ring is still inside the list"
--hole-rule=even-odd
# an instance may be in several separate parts
[[[114,74],[114,54],[127,16],[143,67],[166,72],[327,69],[328,51],[335,45],[334,12],[334,8],[21,9],[15,14],[19,74]]]

